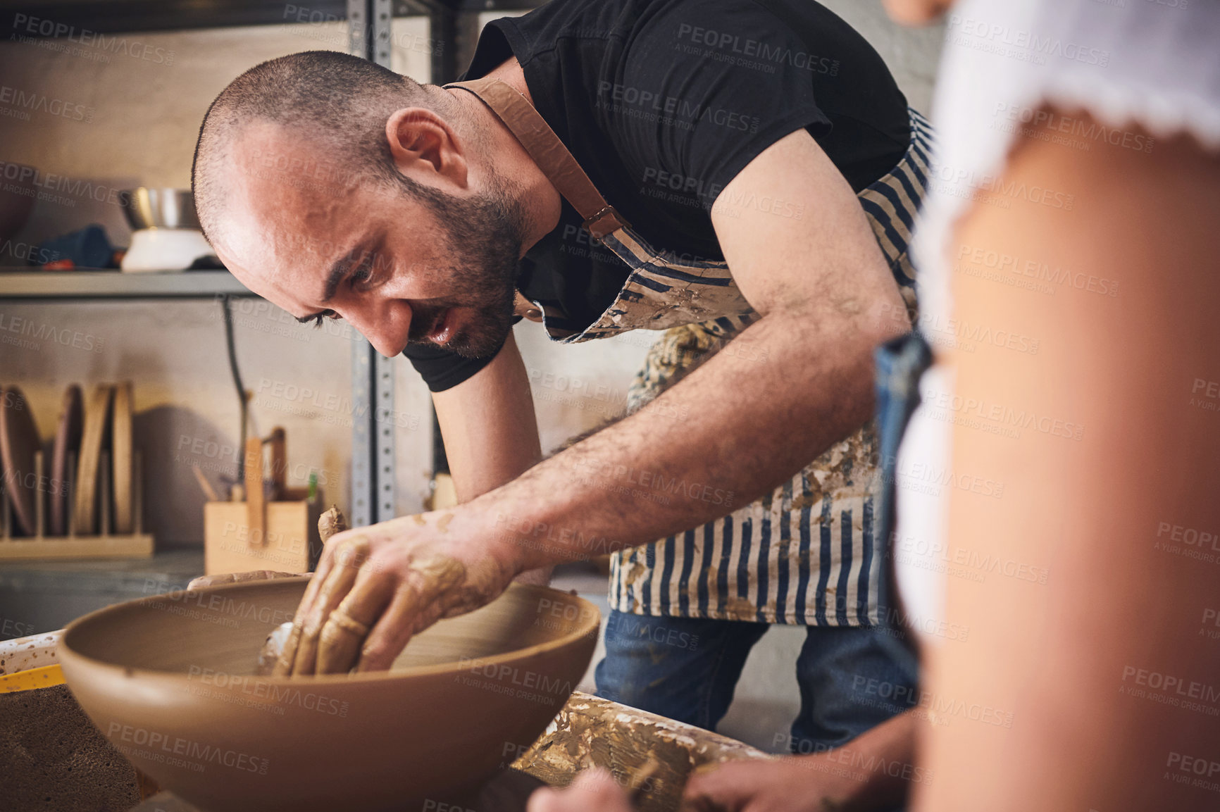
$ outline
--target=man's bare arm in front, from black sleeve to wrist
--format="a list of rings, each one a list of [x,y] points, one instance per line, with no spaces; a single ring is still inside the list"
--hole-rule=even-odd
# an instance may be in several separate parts
[[[734,205],[770,195],[802,217]],[[723,199],[723,200],[722,200]],[[636,415],[482,501],[531,563],[637,545],[748,505],[872,411],[874,347],[909,324],[852,188],[803,129],[712,206],[733,280],[761,318]]]

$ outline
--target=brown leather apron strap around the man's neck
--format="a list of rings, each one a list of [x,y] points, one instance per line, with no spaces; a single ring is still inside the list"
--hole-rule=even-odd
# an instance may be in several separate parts
[[[504,126],[516,135],[526,152],[538,165],[559,194],[572,204],[584,218],[584,230],[600,240],[610,232],[627,224],[614,206],[606,202],[589,176],[559,140],[550,124],[534,110],[529,100],[500,79],[484,77],[470,82],[453,82],[447,88],[460,88],[478,96]]]

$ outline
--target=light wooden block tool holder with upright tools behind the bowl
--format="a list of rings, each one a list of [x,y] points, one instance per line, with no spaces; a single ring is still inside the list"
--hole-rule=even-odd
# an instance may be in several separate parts
[[[271,478],[264,478],[264,446],[271,449]],[[310,572],[322,554],[317,534],[322,496],[285,484],[284,430],[245,443],[245,501],[204,505],[204,572],[251,569]]]

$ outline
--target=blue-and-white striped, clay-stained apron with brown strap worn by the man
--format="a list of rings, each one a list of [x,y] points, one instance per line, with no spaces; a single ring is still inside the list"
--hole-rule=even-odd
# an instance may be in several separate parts
[[[581,332],[561,329],[540,302],[517,295],[518,315],[565,344],[664,329],[628,395],[628,408],[655,397],[710,357],[756,315],[725,262],[691,261],[654,249],[606,204],[554,130],[521,94],[497,79],[459,82],[516,135],[584,228],[631,268],[615,301]],[[911,140],[889,174],[858,195],[908,307],[915,272],[906,244],[924,196],[932,130],[910,111]],[[772,494],[715,522],[616,552],[610,606],[654,616],[805,625],[880,621],[882,550],[874,538],[880,493],[870,422],[831,446]]]

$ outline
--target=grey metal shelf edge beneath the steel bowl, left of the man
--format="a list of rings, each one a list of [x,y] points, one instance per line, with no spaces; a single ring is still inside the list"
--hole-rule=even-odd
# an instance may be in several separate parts
[[[0,299],[212,299],[254,296],[228,271],[0,272]]]

